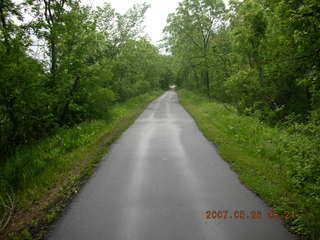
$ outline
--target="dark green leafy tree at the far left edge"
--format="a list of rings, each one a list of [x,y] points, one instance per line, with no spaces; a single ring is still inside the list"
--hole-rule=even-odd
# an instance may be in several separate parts
[[[0,34],[0,149],[1,156],[9,154],[15,146],[37,137],[50,115],[43,104],[46,91],[42,80],[41,64],[28,56],[30,37],[24,25],[14,24],[13,18],[22,20],[20,6],[1,1]]]

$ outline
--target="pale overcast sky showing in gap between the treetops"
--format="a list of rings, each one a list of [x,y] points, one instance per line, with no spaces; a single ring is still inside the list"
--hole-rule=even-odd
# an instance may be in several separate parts
[[[175,11],[181,0],[82,0],[84,4],[91,6],[101,6],[104,2],[110,2],[112,7],[118,12],[124,13],[136,3],[146,2],[151,5],[145,21],[145,32],[149,35],[153,43],[162,39],[162,30],[167,23],[169,13]],[[224,0],[228,2],[228,0]]]

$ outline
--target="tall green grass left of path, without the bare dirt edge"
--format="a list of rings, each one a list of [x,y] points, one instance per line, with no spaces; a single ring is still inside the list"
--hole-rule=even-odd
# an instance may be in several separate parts
[[[113,106],[108,119],[59,129],[50,137],[20,147],[0,167],[0,197],[5,198],[8,193],[14,195],[19,208],[50,194],[51,188],[82,164],[83,158],[101,137],[112,132],[119,122],[159,94],[155,91],[132,98]],[[1,211],[3,213],[4,209],[0,206],[0,215]]]

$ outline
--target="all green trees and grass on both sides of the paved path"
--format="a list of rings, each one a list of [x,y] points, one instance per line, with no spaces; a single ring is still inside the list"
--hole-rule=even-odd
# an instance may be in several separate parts
[[[34,209],[13,210],[31,203],[53,209],[52,221],[60,207],[44,196],[72,196],[85,159],[109,142],[98,139],[175,84],[243,182],[318,240],[320,2],[182,0],[164,29],[167,55],[143,32],[148,7],[0,0],[0,232],[22,229],[16,219]]]

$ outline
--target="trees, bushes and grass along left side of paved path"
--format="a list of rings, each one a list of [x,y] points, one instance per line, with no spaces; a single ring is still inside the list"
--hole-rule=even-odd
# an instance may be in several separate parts
[[[168,88],[172,58],[143,31],[148,8],[0,0],[0,238],[54,220],[107,136]]]

